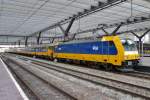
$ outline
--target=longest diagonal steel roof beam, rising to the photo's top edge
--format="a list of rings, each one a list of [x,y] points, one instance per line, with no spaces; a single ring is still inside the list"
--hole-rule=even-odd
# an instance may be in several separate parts
[[[58,27],[59,25],[63,25],[63,24],[66,24],[68,22],[71,21],[71,19],[75,18],[75,20],[79,19],[79,18],[82,18],[82,17],[85,17],[85,16],[88,16],[90,14],[93,14],[95,12],[98,12],[98,11],[101,11],[101,10],[104,10],[104,9],[107,9],[109,7],[112,7],[112,6],[115,6],[117,4],[120,4],[122,2],[126,2],[127,0],[108,0],[107,2],[98,2],[98,5],[97,6],[91,6],[90,9],[85,9],[83,12],[78,12],[77,14],[74,14],[73,16],[70,16],[64,20],[61,20],[53,25],[50,25],[42,30],[39,30],[35,33],[32,33],[30,36],[33,36],[35,34],[37,34],[38,32],[44,32],[44,31],[47,31],[47,30],[50,30],[50,29],[53,29],[55,27]]]

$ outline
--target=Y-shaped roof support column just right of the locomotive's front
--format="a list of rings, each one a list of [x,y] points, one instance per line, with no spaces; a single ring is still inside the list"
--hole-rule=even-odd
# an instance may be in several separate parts
[[[139,35],[137,35],[136,33],[134,33],[134,32],[132,32],[131,31],[131,33],[134,35],[134,36],[136,36],[137,38],[138,38],[138,40],[139,40],[139,53],[140,53],[140,56],[142,56],[143,57],[143,42],[142,42],[142,39],[143,39],[143,37],[146,35],[146,34],[148,34],[150,32],[150,29],[148,29],[146,32],[144,32],[141,36],[139,36]]]

